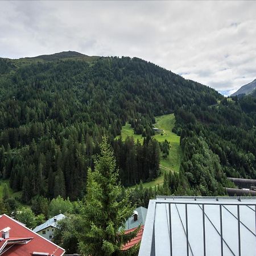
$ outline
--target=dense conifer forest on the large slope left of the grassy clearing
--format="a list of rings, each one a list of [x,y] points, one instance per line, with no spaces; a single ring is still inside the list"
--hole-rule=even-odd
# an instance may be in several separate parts
[[[24,202],[35,195],[84,196],[86,170],[93,168],[102,134],[115,148],[124,185],[154,178],[154,117],[221,97],[141,59],[72,56],[0,59],[0,172],[14,191],[22,190]],[[145,133],[142,147],[114,142],[127,121],[135,133]],[[134,154],[125,156],[126,163],[123,147]]]

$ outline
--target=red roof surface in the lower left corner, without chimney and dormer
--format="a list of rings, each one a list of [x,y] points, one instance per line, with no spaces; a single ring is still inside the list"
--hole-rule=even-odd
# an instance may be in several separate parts
[[[41,237],[39,234],[36,234],[32,230],[26,228],[18,221],[13,218],[3,214],[0,216],[0,230],[10,227],[10,238],[4,239],[0,242],[0,248],[5,244],[11,241],[18,239],[27,240],[27,243],[24,244],[15,244],[11,246],[10,249],[6,250],[1,256],[31,256],[34,251],[49,253],[55,256],[61,256],[65,253],[65,250],[60,246],[55,245],[55,243],[48,241],[46,238]]]

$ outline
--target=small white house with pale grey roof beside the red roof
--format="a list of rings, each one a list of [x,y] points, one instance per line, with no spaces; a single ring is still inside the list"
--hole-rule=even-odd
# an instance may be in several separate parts
[[[60,213],[57,216],[50,218],[48,221],[44,222],[43,224],[36,226],[33,230],[35,233],[40,234],[40,236],[48,239],[49,241],[53,238],[54,230],[57,227],[57,222],[65,218],[65,215]]]

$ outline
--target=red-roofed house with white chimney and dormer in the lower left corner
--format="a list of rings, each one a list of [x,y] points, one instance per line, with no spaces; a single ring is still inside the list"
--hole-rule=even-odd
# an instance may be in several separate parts
[[[62,256],[65,250],[6,214],[0,215],[1,256]]]

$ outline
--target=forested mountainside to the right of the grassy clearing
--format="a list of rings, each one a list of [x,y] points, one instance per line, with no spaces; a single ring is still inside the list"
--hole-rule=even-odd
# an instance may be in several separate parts
[[[246,96],[205,108],[178,109],[176,131],[184,159],[181,164],[189,184],[208,195],[225,176],[256,177],[256,98]]]

